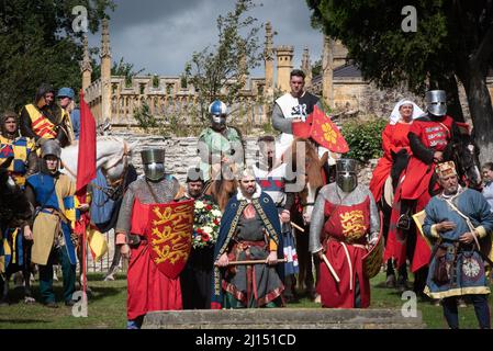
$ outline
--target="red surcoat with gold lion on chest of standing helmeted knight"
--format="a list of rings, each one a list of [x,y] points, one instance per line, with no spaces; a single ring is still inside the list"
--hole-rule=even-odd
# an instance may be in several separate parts
[[[366,235],[370,228],[370,199],[357,205],[335,205],[325,202],[324,225],[325,256],[334,268],[340,282],[337,283],[327,265],[321,263],[321,276],[316,291],[321,294],[322,306],[330,308],[354,308],[356,279],[359,281],[361,306],[370,305],[370,282],[362,270]],[[347,249],[347,253],[345,250]],[[348,259],[349,257],[349,259]]]

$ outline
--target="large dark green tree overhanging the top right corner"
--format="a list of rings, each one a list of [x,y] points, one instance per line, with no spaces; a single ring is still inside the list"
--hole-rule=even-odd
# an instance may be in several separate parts
[[[468,98],[482,155],[493,154],[493,107],[486,75],[493,53],[493,3],[418,0],[417,31],[404,32],[408,1],[306,0],[312,22],[340,39],[363,77],[381,88],[407,82],[411,91],[447,91],[449,114],[463,120],[458,82]],[[482,157],[482,161],[485,158]]]

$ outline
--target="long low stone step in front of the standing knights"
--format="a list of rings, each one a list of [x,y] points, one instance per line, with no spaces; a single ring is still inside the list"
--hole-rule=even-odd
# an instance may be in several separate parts
[[[421,312],[400,309],[272,308],[148,313],[145,329],[419,329]]]

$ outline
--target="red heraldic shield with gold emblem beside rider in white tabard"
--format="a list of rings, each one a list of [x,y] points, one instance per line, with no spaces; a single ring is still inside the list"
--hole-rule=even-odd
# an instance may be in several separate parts
[[[312,114],[312,139],[333,152],[346,154],[349,151],[349,146],[335,123],[332,122],[330,118],[316,105],[314,106]]]

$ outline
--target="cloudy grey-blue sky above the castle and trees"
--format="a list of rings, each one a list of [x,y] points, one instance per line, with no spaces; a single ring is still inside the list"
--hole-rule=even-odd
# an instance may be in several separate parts
[[[217,42],[216,19],[233,10],[235,0],[114,0],[109,11],[112,60],[121,57],[143,73],[179,76],[193,52]],[[312,64],[322,54],[322,34],[312,29],[305,0],[255,0],[262,4],[250,11],[258,23],[270,21],[274,46],[294,46],[294,68],[300,67],[303,48]],[[259,34],[264,45],[265,31]],[[89,46],[99,47],[100,33],[89,34]],[[253,71],[264,77],[264,65]]]

